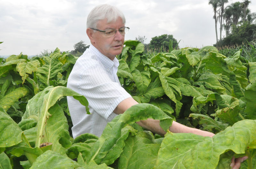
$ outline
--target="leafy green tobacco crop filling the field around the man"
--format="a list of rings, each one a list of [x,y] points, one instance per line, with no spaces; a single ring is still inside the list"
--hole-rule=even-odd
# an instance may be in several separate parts
[[[213,46],[144,53],[125,41],[117,56],[123,88],[139,102],[107,124],[101,137],[72,138],[66,88],[77,57],[58,48],[44,57],[0,59],[0,168],[256,168],[256,62]],[[160,120],[164,137],[137,125]],[[172,121],[215,133],[172,133]]]

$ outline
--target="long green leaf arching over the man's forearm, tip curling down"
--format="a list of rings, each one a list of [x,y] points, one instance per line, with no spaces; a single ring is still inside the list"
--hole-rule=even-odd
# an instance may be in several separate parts
[[[156,106],[147,103],[136,104],[107,124],[99,140],[93,144],[92,154],[86,158],[87,162],[94,160],[97,164],[112,164],[120,156],[125,145],[124,140],[129,133],[135,135],[134,129],[125,124],[132,124],[148,118],[160,120],[160,126],[164,130],[169,129],[173,120]]]

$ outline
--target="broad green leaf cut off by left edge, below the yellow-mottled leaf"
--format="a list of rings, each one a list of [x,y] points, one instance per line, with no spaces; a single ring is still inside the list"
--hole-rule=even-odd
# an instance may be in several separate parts
[[[19,144],[22,141],[22,130],[1,107],[0,121],[0,147],[11,147]]]

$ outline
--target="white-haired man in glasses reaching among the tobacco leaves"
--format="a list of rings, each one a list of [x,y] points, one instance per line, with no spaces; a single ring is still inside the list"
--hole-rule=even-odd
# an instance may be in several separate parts
[[[68,97],[74,138],[83,133],[92,133],[100,137],[108,122],[138,104],[121,87],[116,75],[119,65],[116,55],[122,52],[124,35],[128,30],[129,28],[125,27],[124,14],[116,7],[103,4],[96,6],[89,13],[86,33],[91,45],[76,61],[69,75],[67,87],[87,98],[92,114],[87,115],[83,105],[73,97]],[[160,135],[166,133],[158,120],[148,119],[137,123]],[[214,136],[211,132],[189,128],[177,122],[173,122],[169,130],[174,133]],[[240,161],[236,164],[240,165]]]

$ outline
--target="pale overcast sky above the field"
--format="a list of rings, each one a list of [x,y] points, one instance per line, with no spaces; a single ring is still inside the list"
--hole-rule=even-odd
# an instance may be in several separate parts
[[[256,12],[256,1],[251,2],[249,9]],[[152,37],[172,34],[180,40],[180,47],[201,48],[216,43],[214,13],[208,0],[0,0],[0,4],[0,42],[4,42],[0,56],[21,52],[36,55],[56,47],[71,51],[81,40],[89,45],[86,18],[99,4],[123,11],[125,25],[130,27],[125,40],[140,35],[149,43]],[[225,35],[225,30],[222,32]]]

